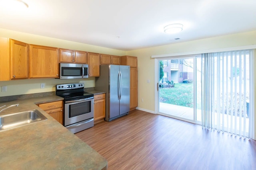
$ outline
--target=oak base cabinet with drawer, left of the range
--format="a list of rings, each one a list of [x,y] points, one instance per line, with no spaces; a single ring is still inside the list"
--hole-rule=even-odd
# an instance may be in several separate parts
[[[44,103],[38,106],[63,125],[63,101]]]

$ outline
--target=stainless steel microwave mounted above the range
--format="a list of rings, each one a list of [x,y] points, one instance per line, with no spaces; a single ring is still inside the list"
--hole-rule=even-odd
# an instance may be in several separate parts
[[[60,79],[88,78],[88,64],[60,63]]]

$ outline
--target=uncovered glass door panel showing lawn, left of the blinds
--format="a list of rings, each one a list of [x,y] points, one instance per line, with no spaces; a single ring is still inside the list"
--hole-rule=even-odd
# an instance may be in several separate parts
[[[191,122],[196,122],[197,117],[200,119],[201,116],[196,115],[195,61],[196,56],[158,61],[158,111],[160,114]]]

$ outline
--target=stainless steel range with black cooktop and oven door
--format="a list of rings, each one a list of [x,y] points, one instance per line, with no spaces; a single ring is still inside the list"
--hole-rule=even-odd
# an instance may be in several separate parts
[[[56,85],[56,95],[64,98],[64,126],[77,133],[94,126],[94,96],[84,92],[83,83]]]

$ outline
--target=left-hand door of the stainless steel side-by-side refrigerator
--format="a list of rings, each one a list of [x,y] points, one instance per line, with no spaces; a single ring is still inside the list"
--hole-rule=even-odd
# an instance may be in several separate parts
[[[119,66],[110,65],[109,72],[109,119],[111,119],[119,115]]]

